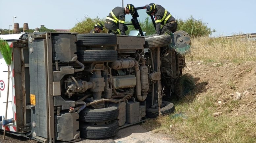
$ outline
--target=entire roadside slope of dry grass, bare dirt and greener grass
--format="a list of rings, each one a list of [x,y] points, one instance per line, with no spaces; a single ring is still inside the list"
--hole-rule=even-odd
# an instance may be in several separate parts
[[[255,96],[256,41],[236,36],[230,39],[206,36],[191,41],[193,61],[205,64],[193,74],[201,80],[196,83],[196,92],[182,100],[172,100],[173,114],[151,119],[143,126],[153,132],[171,134],[184,142],[256,142],[255,108],[247,107],[255,106],[255,100],[249,95]],[[248,66],[237,67],[246,62]],[[214,66],[213,63],[218,64]],[[228,65],[224,67],[224,63]],[[195,69],[189,68],[193,66],[185,72],[193,73]],[[249,74],[247,79],[242,79],[243,73]],[[246,84],[242,86],[237,82]],[[244,90],[250,92],[243,95],[244,99],[232,98],[232,93]],[[213,113],[219,111],[222,115],[214,117]]]

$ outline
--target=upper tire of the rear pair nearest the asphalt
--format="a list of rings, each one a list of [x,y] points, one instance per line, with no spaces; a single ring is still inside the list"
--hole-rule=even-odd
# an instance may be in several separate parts
[[[101,109],[89,109],[85,108],[79,113],[79,121],[89,123],[99,123],[105,121],[111,121],[118,117],[118,108],[116,106],[110,106]]]

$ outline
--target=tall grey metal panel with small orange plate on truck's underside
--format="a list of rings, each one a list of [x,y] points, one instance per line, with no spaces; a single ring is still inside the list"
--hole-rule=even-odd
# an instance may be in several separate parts
[[[44,39],[34,39],[29,43],[29,48],[33,47],[33,52],[29,54],[30,60],[30,94],[35,95],[35,109],[31,111],[31,120],[35,122],[32,126],[32,138],[37,136],[48,138],[48,92],[47,92],[47,72],[46,72],[46,46]]]

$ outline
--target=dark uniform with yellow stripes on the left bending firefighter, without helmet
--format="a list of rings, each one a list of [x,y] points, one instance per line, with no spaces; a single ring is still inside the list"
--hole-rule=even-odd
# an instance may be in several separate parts
[[[125,31],[128,30],[128,27],[125,26],[125,8],[115,7],[106,17],[104,27],[108,30],[117,31],[121,35],[126,35]]]

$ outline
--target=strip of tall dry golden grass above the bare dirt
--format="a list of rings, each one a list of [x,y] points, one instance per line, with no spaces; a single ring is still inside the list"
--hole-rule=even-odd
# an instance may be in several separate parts
[[[228,60],[234,63],[256,60],[256,41],[234,37],[201,37],[191,40],[193,60],[220,62]]]

